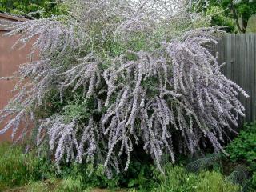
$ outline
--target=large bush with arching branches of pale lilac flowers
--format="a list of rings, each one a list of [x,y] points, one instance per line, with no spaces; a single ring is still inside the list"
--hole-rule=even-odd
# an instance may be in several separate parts
[[[34,42],[1,134],[22,139],[33,126],[58,165],[104,164],[109,176],[128,169],[136,145],[159,169],[163,154],[174,162],[209,143],[225,153],[221,142],[244,115],[237,95],[247,94],[209,50],[222,30],[198,28],[209,18],[183,1],[65,3],[69,15],[8,26],[21,33],[16,45]]]

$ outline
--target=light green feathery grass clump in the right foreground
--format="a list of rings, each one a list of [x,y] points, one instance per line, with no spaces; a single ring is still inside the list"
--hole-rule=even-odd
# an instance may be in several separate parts
[[[157,172],[158,187],[155,192],[236,192],[240,187],[227,182],[216,171],[203,170],[198,174],[189,173],[182,166],[167,165],[164,173]]]

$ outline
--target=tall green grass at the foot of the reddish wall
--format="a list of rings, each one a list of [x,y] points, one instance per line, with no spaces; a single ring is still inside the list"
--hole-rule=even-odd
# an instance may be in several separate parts
[[[0,191],[23,186],[54,173],[53,166],[45,158],[38,158],[32,152],[26,154],[22,145],[0,143],[0,153]]]

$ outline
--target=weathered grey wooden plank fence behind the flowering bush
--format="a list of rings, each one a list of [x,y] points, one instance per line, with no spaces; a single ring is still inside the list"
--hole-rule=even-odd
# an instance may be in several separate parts
[[[256,120],[256,34],[226,34],[214,46],[218,51],[218,62],[226,62],[223,73],[236,82],[250,98],[239,95],[246,107],[246,122]]]

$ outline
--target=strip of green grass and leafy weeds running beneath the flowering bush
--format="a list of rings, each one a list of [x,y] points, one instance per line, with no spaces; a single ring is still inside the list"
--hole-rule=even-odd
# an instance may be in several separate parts
[[[190,173],[185,166],[166,164],[162,172],[146,162],[136,162],[126,174],[108,179],[104,167],[72,164],[55,172],[47,158],[25,154],[22,146],[0,145],[0,191],[6,192],[76,192],[76,191],[152,191],[152,192],[235,192],[240,187],[226,181],[216,171]]]

